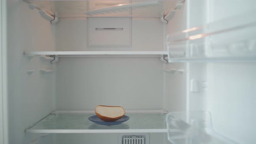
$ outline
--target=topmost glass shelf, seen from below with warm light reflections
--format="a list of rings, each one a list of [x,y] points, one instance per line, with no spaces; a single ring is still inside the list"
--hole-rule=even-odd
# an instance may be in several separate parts
[[[69,16],[163,16],[183,0],[24,0],[59,17]],[[167,7],[168,6],[168,7]]]

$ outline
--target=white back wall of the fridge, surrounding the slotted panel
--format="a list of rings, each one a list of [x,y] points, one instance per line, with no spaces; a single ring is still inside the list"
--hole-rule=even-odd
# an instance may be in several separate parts
[[[162,51],[159,18],[132,18],[132,47],[89,48],[87,22],[61,18],[56,24],[56,49],[69,51]],[[160,58],[60,58],[56,73],[56,110],[94,110],[121,105],[126,110],[163,109],[163,66]]]

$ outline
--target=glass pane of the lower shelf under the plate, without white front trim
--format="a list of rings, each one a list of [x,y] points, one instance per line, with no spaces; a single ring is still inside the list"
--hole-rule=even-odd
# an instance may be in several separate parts
[[[126,113],[130,119],[122,124],[105,126],[95,124],[88,118],[95,114],[50,114],[39,121],[27,132],[40,132],[40,130],[141,130],[158,129],[166,131],[165,117],[163,113]],[[35,131],[31,131],[35,130]],[[47,132],[46,131],[46,132]],[[67,133],[72,131],[67,131]],[[89,133],[89,131],[86,131]],[[109,131],[111,132],[111,131]],[[58,133],[58,132],[56,132]]]

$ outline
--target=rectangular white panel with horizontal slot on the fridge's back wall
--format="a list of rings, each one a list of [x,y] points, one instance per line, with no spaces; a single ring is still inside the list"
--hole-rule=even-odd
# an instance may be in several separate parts
[[[130,47],[131,18],[88,18],[88,47]]]

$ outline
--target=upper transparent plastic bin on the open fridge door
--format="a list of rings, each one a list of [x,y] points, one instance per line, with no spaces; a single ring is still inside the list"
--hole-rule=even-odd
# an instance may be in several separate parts
[[[169,62],[256,62],[256,11],[167,36]],[[184,51],[184,56],[172,56]]]

